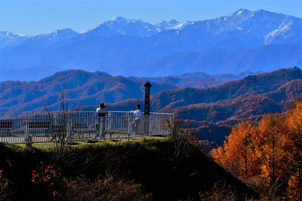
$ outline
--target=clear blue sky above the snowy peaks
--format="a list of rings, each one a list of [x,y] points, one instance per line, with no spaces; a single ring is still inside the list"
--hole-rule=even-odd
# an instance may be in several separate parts
[[[151,24],[213,19],[240,8],[302,17],[302,0],[0,0],[0,30],[24,35],[71,28],[79,33],[122,16]]]

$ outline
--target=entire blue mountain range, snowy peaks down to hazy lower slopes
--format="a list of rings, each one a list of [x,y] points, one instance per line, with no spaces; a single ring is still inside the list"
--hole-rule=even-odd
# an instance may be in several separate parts
[[[1,81],[37,81],[57,71],[105,71],[159,77],[239,74],[301,66],[301,18],[240,9],[210,20],[116,17],[85,33],[71,29],[24,36],[1,31]]]

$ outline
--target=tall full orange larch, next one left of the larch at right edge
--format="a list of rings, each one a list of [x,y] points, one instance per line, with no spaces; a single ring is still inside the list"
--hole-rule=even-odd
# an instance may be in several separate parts
[[[284,185],[289,155],[288,127],[279,113],[264,115],[253,138],[255,157],[261,164],[260,176],[267,181],[269,193],[275,196]]]

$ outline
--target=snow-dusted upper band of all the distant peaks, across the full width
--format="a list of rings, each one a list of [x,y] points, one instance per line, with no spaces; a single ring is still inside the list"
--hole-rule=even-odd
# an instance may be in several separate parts
[[[179,23],[172,19],[152,25],[138,19],[129,20],[124,17],[116,17],[98,24],[83,34],[71,29],[64,29],[38,36],[24,36],[2,31],[0,36],[2,47],[16,46],[16,42],[10,42],[10,39],[16,41],[19,37],[21,42],[18,45],[32,47],[32,44],[35,43],[37,48],[43,48],[71,38],[74,38],[71,40],[73,43],[99,36],[105,38],[115,35],[150,37],[165,30],[179,30],[178,38],[182,38],[181,35],[185,35],[185,40],[192,37],[194,39],[192,42],[196,42],[206,49],[212,46],[225,48],[234,41],[237,46],[240,46],[239,49],[276,43],[299,44],[301,42],[301,18],[264,10],[248,11],[244,8],[228,16],[196,22]],[[40,47],[38,47],[39,43],[41,43]]]

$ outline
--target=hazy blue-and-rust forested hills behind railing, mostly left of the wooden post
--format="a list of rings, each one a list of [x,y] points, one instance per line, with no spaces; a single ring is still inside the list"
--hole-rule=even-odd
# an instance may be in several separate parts
[[[78,97],[81,105],[98,105],[100,102],[115,103],[132,98],[142,98],[146,80],[131,80],[127,77],[113,77],[105,72],[90,73],[82,70],[57,72],[40,81],[1,82],[1,111],[32,111],[43,106],[42,96],[50,105],[56,103],[55,94],[60,84],[67,80],[67,88],[73,88],[71,102]],[[173,83],[151,83],[153,93],[163,89],[180,88]]]

